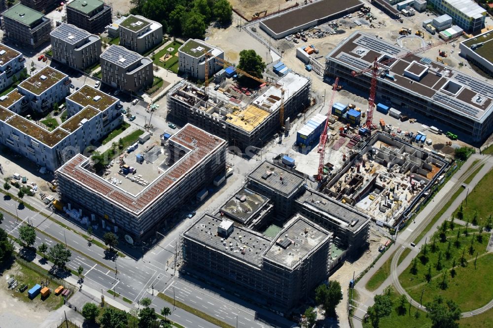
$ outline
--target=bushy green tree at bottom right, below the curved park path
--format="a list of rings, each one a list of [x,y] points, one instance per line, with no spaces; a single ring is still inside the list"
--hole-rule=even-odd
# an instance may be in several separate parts
[[[432,328],[457,328],[460,319],[460,309],[452,300],[445,300],[442,296],[435,296],[432,302],[425,304]]]

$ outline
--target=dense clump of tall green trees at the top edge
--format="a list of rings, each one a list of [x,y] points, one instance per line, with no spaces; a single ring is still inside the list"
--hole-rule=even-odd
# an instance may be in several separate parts
[[[204,38],[213,21],[231,23],[233,7],[228,0],[131,0],[132,14],[160,22],[173,35]]]

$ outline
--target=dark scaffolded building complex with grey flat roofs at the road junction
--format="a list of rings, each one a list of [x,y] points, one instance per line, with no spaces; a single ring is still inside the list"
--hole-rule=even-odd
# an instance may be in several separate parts
[[[279,311],[305,300],[347,257],[359,257],[370,228],[369,216],[308,179],[282,164],[257,165],[180,236],[182,273]]]

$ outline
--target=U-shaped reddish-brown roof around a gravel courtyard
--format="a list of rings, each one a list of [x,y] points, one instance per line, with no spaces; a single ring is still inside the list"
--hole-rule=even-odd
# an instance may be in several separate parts
[[[196,169],[219,147],[226,144],[225,140],[190,124],[177,131],[169,140],[190,151],[154,181],[149,181],[149,184],[136,194],[134,190],[125,190],[115,186],[101,176],[90,172],[86,168],[89,159],[80,154],[61,166],[58,172],[77,181],[92,192],[106,197],[115,206],[140,215],[144,209],[168,193],[173,186],[180,183],[187,174]]]

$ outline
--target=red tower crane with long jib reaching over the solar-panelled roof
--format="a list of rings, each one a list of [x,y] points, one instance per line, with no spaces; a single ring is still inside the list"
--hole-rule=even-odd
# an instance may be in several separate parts
[[[419,49],[416,49],[413,51],[408,51],[406,53],[392,57],[392,58],[390,58],[386,61],[380,62],[380,63],[378,62],[378,58],[375,57],[375,60],[373,61],[372,66],[365,68],[365,69],[358,71],[358,72],[356,72],[356,71],[351,72],[352,76],[357,76],[357,75],[361,75],[361,74],[364,74],[364,73],[371,71],[370,95],[368,97],[368,112],[366,113],[366,122],[365,122],[365,127],[368,130],[371,131],[372,129],[374,129],[373,109],[375,108],[375,95],[377,93],[377,76],[378,76],[379,66],[388,66],[389,64],[392,64],[393,62],[395,62],[401,58],[406,58],[406,57],[411,56],[411,55],[419,54],[420,52],[426,51],[426,50],[431,49],[433,47],[436,47],[436,46],[439,46],[441,44],[453,41],[456,38],[458,38],[458,36],[456,36],[455,38],[452,38],[450,40],[441,40],[441,41],[436,42],[436,43],[428,44],[427,46],[425,46],[423,48],[419,48]]]

